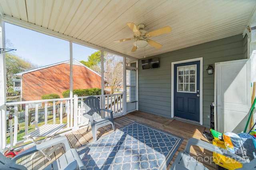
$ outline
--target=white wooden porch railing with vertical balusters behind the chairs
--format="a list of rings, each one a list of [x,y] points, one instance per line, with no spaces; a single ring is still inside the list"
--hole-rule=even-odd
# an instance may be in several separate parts
[[[95,97],[100,99],[102,108],[111,109],[113,111],[114,117],[124,113],[122,93]],[[82,115],[83,105],[81,101],[85,98],[86,96],[78,97],[74,95],[74,98],[6,103],[5,106],[1,106],[0,108],[0,114],[2,120],[4,120],[1,128],[2,147],[6,146],[6,141],[9,143],[10,134],[8,133],[8,123],[10,126],[14,124],[14,145],[27,142],[22,137],[44,124],[67,123],[67,126],[60,132],[68,130],[76,131],[82,126],[88,125],[88,119]],[[24,108],[21,112],[18,111],[20,107]],[[12,120],[8,120],[9,114],[13,114]],[[3,125],[5,125],[5,127],[3,127]]]

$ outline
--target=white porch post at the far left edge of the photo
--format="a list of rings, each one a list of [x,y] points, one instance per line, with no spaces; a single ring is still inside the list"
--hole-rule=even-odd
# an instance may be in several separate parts
[[[0,17],[0,48],[5,48],[4,21]],[[0,149],[6,146],[6,69],[5,53],[0,53]]]

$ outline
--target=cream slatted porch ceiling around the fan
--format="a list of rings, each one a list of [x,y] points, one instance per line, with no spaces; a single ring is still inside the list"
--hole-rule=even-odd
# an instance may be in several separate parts
[[[6,18],[58,33],[141,59],[144,49],[131,52],[133,37],[126,25],[143,23],[150,32],[169,25],[172,32],[150,39],[146,57],[241,34],[256,22],[255,0],[0,0]]]

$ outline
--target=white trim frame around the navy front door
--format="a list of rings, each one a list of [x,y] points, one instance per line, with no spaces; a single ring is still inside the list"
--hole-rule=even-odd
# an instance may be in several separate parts
[[[188,59],[172,62],[172,77],[171,77],[171,117],[174,117],[174,64],[188,63],[192,61],[200,61],[200,125],[203,125],[203,57],[196,59]]]

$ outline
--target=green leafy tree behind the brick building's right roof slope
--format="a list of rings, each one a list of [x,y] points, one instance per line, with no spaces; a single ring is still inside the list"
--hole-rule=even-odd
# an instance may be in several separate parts
[[[80,63],[101,74],[101,51],[92,53],[92,55],[88,56],[88,61],[80,61]]]

